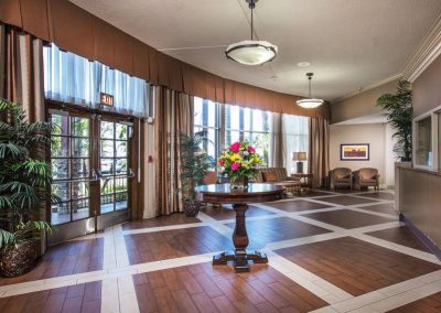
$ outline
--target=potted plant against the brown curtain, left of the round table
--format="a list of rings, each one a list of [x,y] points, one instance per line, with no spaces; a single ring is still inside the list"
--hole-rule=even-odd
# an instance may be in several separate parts
[[[186,216],[196,216],[202,203],[196,197],[195,187],[204,184],[213,158],[203,151],[203,143],[208,142],[207,132],[198,131],[193,136],[181,133],[181,192]]]

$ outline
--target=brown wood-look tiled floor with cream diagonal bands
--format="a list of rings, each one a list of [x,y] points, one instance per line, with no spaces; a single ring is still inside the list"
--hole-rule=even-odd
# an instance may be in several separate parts
[[[247,212],[249,273],[212,266],[235,214],[208,207],[127,223],[50,248],[0,279],[0,312],[441,312],[441,263],[387,192],[310,191]]]

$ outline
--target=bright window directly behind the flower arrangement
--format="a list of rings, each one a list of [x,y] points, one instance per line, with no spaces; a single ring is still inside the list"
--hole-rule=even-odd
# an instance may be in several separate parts
[[[270,156],[272,116],[270,112],[225,106],[225,144],[247,140],[262,156],[263,165],[268,166]]]

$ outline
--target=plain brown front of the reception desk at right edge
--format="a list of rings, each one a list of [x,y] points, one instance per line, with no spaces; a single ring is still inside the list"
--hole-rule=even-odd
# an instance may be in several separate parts
[[[441,173],[399,166],[396,171],[396,209],[441,249]]]

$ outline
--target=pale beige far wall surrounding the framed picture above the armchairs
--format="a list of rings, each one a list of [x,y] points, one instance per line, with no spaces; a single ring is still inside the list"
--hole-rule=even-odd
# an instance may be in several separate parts
[[[379,183],[385,185],[385,133],[384,123],[332,125],[330,127],[330,169],[349,168],[356,171],[361,168],[376,168],[380,174]],[[369,143],[369,161],[340,161],[340,144],[342,143]]]

